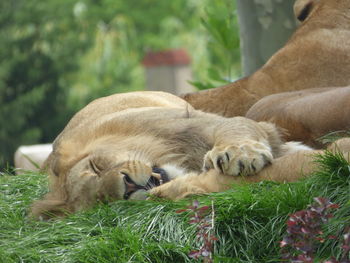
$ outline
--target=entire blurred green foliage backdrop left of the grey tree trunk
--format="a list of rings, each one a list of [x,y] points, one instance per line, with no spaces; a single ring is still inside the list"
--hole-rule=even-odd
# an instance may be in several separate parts
[[[147,51],[185,48],[201,83],[239,73],[231,0],[11,0],[0,9],[0,167],[19,145],[52,142],[92,99],[144,89]]]

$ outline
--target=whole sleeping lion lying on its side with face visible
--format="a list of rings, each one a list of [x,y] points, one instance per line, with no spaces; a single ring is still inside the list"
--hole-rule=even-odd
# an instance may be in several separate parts
[[[56,138],[46,161],[49,193],[31,215],[145,199],[149,190],[177,199],[222,191],[242,178],[296,180],[304,165],[312,167],[309,152],[284,143],[273,124],[197,111],[162,92],[117,94],[87,105]]]

